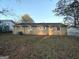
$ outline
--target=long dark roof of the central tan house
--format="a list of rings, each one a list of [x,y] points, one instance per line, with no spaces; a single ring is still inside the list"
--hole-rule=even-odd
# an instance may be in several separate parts
[[[62,24],[62,23],[18,23],[15,26],[21,25],[23,27],[25,26],[32,26],[32,27],[36,27],[36,26],[53,26],[53,27],[57,27],[57,26],[61,26],[61,27],[66,27],[66,25]]]

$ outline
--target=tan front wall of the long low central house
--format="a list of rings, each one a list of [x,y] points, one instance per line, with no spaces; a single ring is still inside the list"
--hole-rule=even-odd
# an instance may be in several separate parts
[[[31,35],[66,35],[66,27],[59,27],[60,30],[57,30],[57,27],[14,27],[13,33],[16,34],[18,32],[22,32],[24,34],[31,34]]]

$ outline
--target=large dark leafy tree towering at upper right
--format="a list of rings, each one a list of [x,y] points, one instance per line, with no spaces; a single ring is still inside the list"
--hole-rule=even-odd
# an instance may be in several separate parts
[[[79,1],[77,0],[59,0],[54,10],[56,15],[62,15],[68,18],[74,18],[74,26],[79,25]],[[71,19],[72,20],[72,19]]]

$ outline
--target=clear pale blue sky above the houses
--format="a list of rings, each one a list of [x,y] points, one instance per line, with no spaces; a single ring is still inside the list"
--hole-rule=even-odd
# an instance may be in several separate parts
[[[21,20],[21,16],[28,14],[36,23],[59,23],[63,17],[55,16],[52,10],[55,9],[58,0],[1,0],[0,9],[7,8],[13,16],[0,15],[0,19]]]

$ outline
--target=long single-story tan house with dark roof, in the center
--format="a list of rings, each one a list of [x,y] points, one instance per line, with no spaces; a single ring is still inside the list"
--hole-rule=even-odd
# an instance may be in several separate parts
[[[19,23],[15,24],[13,34],[28,35],[66,35],[67,26],[61,23]]]

